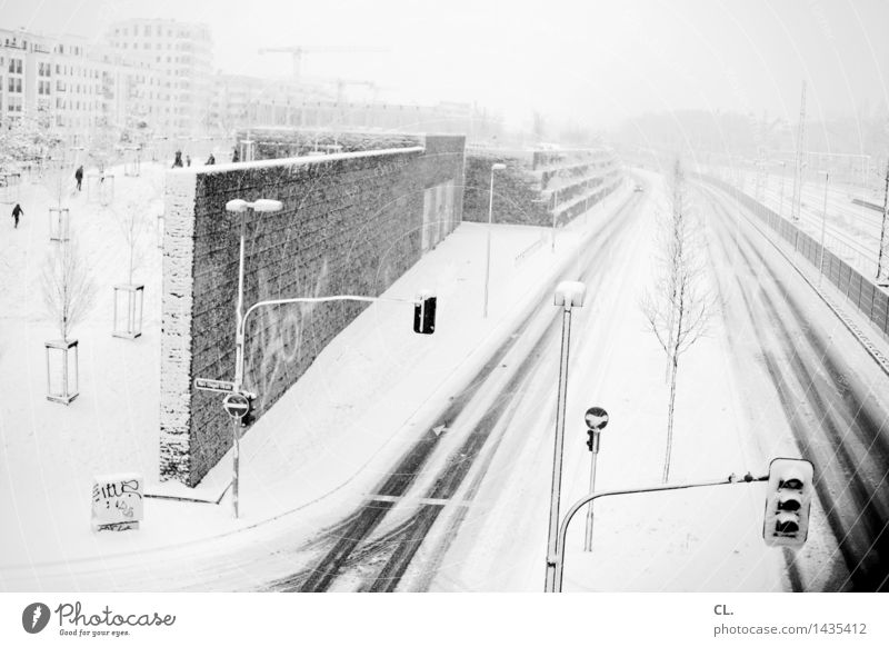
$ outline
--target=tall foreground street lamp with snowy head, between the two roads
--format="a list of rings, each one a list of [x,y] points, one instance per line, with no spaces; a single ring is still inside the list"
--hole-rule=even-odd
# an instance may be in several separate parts
[[[556,398],[556,448],[552,456],[552,489],[549,506],[549,535],[547,538],[546,590],[556,586],[559,535],[559,491],[562,482],[562,448],[565,446],[565,408],[568,391],[568,346],[571,337],[571,308],[583,307],[587,286],[579,281],[562,281],[556,288],[555,305],[562,307],[562,348],[559,365],[559,392]]]

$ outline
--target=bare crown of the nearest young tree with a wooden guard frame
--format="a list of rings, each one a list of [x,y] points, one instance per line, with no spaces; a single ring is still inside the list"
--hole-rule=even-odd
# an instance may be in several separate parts
[[[47,312],[67,340],[71,328],[87,316],[96,300],[96,282],[73,239],[50,250],[41,283]]]

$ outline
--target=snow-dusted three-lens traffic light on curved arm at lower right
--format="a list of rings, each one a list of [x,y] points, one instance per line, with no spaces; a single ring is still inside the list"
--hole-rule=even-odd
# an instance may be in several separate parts
[[[815,468],[801,458],[776,458],[769,465],[769,489],[762,538],[768,546],[799,548],[809,534]]]

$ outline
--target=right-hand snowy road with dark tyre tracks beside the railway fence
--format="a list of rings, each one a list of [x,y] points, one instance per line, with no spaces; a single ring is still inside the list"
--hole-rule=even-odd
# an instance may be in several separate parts
[[[885,590],[889,577],[889,378],[751,226],[713,190],[712,266],[729,341],[748,377],[748,405],[770,455],[802,456],[816,469],[809,544],[785,555],[793,588]]]

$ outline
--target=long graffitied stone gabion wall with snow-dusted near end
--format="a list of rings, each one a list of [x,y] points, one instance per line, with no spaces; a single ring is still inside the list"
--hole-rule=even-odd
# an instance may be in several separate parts
[[[462,137],[402,148],[221,165],[168,173],[160,476],[197,485],[231,446],[219,394],[196,377],[234,376],[239,218],[226,202],[272,198],[247,212],[244,309],[263,299],[378,296],[419,260],[423,191],[463,183]],[[453,226],[462,197],[455,196]],[[452,228],[451,228],[452,229]],[[249,319],[244,387],[267,411],[366,303],[267,307]]]

